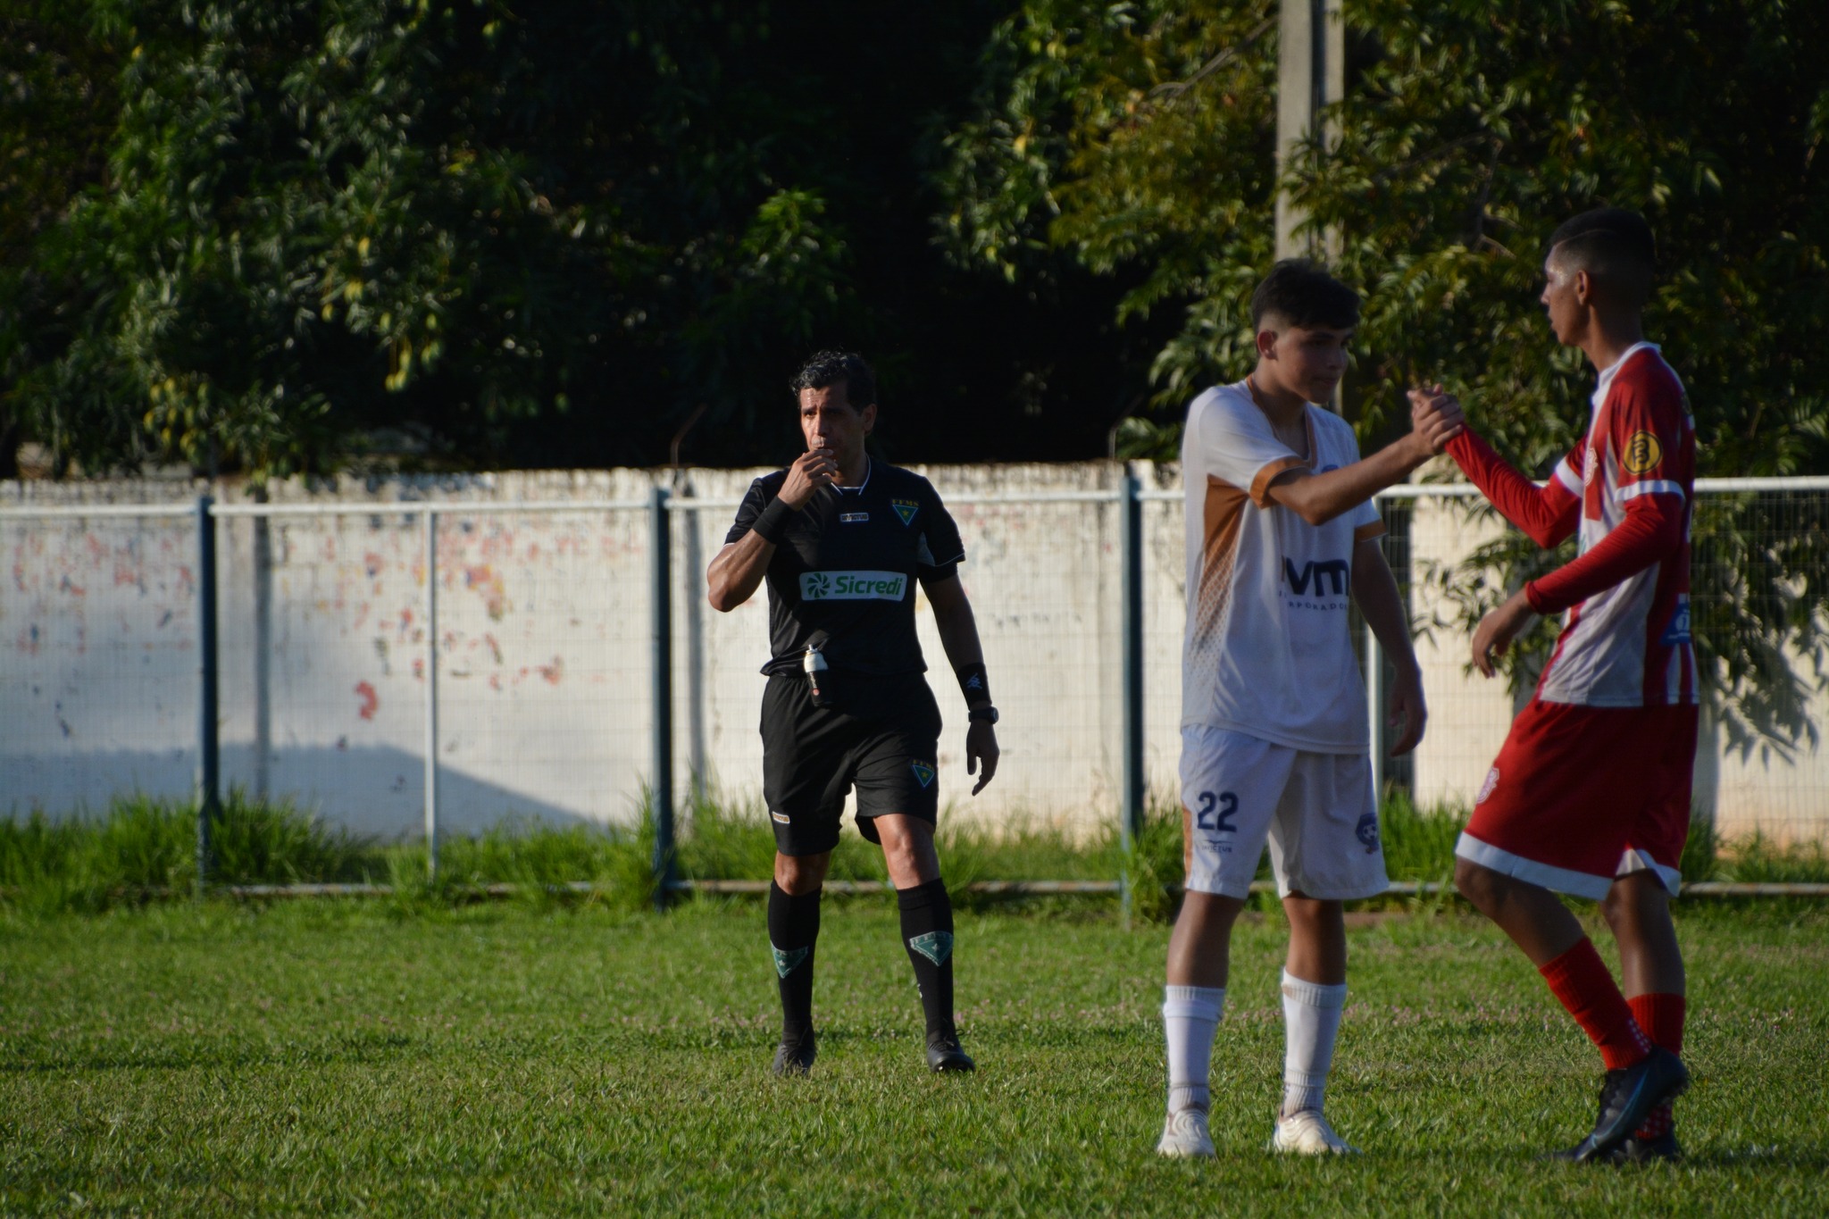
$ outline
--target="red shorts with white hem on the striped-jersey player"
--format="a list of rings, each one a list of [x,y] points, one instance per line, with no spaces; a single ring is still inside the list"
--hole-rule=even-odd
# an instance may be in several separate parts
[[[1577,897],[1652,870],[1675,894],[1690,835],[1695,707],[1531,698],[1480,786],[1454,853]]]

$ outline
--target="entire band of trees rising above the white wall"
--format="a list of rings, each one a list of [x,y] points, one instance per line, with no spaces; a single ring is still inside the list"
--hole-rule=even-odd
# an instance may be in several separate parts
[[[1275,0],[4,0],[0,448],[256,475],[792,444],[816,347],[922,461],[1172,446],[1249,362]],[[1288,183],[1366,292],[1350,413],[1580,426],[1542,239],[1644,210],[1710,473],[1829,466],[1820,5],[1364,0]]]

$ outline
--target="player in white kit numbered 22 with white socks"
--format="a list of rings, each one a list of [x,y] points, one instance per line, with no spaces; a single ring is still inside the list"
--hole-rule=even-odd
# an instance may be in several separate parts
[[[1346,371],[1359,296],[1319,267],[1277,263],[1251,298],[1258,362],[1187,411],[1187,634],[1182,652],[1182,806],[1187,899],[1169,939],[1163,1025],[1169,1115],[1158,1151],[1213,1155],[1213,1033],[1225,1003],[1233,921],[1269,841],[1289,916],[1288,1022],[1277,1151],[1352,1151],[1322,1115],[1346,1002],[1342,903],[1385,892],[1364,684],[1348,598],[1397,676],[1394,753],[1427,716],[1410,623],[1385,563],[1372,495],[1401,482],[1460,431],[1412,413],[1414,429],[1361,461],[1328,402]]]

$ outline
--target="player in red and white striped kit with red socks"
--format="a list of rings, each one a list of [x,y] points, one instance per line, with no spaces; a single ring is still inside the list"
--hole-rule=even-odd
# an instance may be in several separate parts
[[[1644,340],[1655,245],[1644,217],[1584,212],[1551,238],[1544,307],[1556,340],[1599,373],[1588,435],[1535,486],[1474,431],[1447,451],[1540,546],[1578,535],[1575,561],[1487,614],[1474,665],[1535,614],[1564,614],[1531,702],[1511,726],[1456,846],[1454,883],[1536,965],[1600,1049],[1593,1131],[1558,1159],[1679,1155],[1670,1102],[1688,1086],[1683,952],[1670,921],[1695,762],[1690,515],[1695,426],[1683,382]],[[1436,387],[1416,411],[1456,413]],[[1556,894],[1600,901],[1615,983]]]

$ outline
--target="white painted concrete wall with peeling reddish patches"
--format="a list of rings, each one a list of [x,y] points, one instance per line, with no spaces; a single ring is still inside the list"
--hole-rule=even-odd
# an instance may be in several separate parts
[[[717,501],[673,514],[675,791],[702,766],[733,799],[761,782],[757,705],[768,654],[763,598],[704,603],[702,568],[757,470],[402,477],[274,488],[274,503],[360,501],[375,512],[276,517],[262,649],[254,525],[225,521],[221,742],[229,782],[289,795],[373,833],[413,833],[422,806],[424,543],[412,503],[644,501],[662,481]],[[944,497],[1112,490],[1114,462],[924,470]],[[1141,468],[1174,488],[1172,470]],[[20,503],[188,503],[170,482],[0,484]],[[241,488],[214,488],[241,503]],[[1033,819],[1088,832],[1118,808],[1118,508],[969,504],[960,568],[1004,722],[1004,764],[980,797],[964,771],[964,713],[931,614],[918,623],[946,713],[942,799],[955,817]],[[1143,506],[1147,766],[1171,793],[1180,747],[1182,512]],[[1454,563],[1496,525],[1421,503],[1419,563]],[[649,517],[646,512],[441,515],[441,819],[463,832],[510,815],[624,821],[649,773]],[[123,791],[185,795],[196,764],[198,651],[188,521],[0,517],[0,815],[95,808]],[[1416,609],[1445,609],[1417,588]],[[265,651],[262,678],[256,656]],[[1432,704],[1416,760],[1425,802],[1467,800],[1511,716],[1496,682],[1465,673],[1467,643],[1419,643]],[[258,689],[267,685],[265,724]],[[699,691],[695,698],[693,691]],[[1824,707],[1813,709],[1824,722]],[[260,747],[262,729],[265,747]],[[1710,738],[1714,740],[1714,738]],[[1728,833],[1816,837],[1829,826],[1829,758],[1723,757],[1705,747],[1697,795]]]

